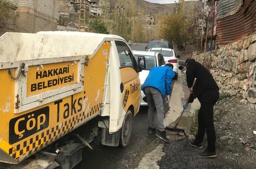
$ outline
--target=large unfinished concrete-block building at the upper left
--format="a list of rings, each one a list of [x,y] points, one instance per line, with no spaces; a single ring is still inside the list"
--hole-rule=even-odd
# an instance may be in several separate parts
[[[57,30],[58,0],[9,0],[9,2],[15,15],[13,20],[0,27],[0,35],[5,32],[37,33]]]

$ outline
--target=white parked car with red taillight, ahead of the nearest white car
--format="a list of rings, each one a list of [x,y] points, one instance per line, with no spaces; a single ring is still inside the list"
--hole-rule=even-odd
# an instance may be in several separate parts
[[[159,52],[164,56],[165,62],[166,63],[172,63],[173,64],[173,71],[175,71],[175,76],[173,79],[177,80],[178,79],[178,69],[179,69],[179,60],[180,55],[175,54],[173,49],[168,49],[168,48],[151,48],[149,51],[155,51]]]

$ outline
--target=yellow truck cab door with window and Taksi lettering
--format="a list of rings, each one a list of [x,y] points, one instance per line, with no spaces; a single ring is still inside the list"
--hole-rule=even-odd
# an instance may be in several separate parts
[[[139,73],[137,73],[137,63],[133,53],[128,45],[121,40],[115,41],[119,61],[120,61],[120,74],[122,91],[122,106],[125,111],[133,105],[134,115],[138,113],[141,100],[141,85]]]

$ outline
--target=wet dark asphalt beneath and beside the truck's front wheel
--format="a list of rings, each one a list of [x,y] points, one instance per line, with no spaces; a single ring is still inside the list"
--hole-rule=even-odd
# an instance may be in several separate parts
[[[82,161],[74,169],[130,169],[138,166],[142,157],[160,144],[155,134],[148,134],[147,111],[147,107],[141,107],[135,116],[131,140],[126,147],[102,145],[99,131],[90,143],[93,149],[83,149]]]

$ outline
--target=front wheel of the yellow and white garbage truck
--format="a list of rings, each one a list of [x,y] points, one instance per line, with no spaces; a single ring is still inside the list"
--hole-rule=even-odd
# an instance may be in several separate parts
[[[131,110],[128,110],[122,124],[121,134],[119,139],[119,146],[125,147],[131,138],[132,134],[132,126],[133,126],[133,115]]]

